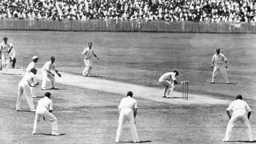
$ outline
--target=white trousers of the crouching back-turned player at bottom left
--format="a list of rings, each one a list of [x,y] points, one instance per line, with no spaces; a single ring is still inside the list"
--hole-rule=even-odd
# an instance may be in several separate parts
[[[33,127],[33,131],[36,131],[37,128],[37,123],[40,121],[41,117],[45,117],[45,120],[49,120],[51,122],[52,125],[52,132],[56,132],[58,133],[58,122],[57,122],[57,118],[50,113],[49,111],[47,111],[46,108],[42,108],[42,109],[38,109],[35,112],[35,121],[34,121],[34,127]]]

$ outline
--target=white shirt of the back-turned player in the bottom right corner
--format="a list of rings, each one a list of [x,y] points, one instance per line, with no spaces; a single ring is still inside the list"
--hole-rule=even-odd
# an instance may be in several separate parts
[[[244,109],[247,112],[251,111],[249,105],[245,101],[240,99],[234,100],[232,103],[230,103],[227,111],[233,111],[233,113],[236,113],[236,110],[239,109]]]

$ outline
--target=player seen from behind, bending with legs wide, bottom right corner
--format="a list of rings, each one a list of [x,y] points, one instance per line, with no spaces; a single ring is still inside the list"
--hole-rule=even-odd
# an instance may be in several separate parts
[[[230,111],[233,111],[232,116],[230,115]],[[245,101],[242,100],[242,96],[240,94],[238,94],[236,96],[236,100],[233,101],[229,105],[226,112],[229,117],[229,122],[228,122],[228,126],[226,129],[225,138],[222,141],[224,141],[224,142],[229,141],[232,128],[236,125],[236,123],[238,121],[241,121],[241,122],[245,123],[246,133],[249,137],[249,141],[252,142],[253,141],[252,129],[249,124],[251,109],[250,109],[249,105]],[[248,115],[247,115],[247,113],[248,113]]]

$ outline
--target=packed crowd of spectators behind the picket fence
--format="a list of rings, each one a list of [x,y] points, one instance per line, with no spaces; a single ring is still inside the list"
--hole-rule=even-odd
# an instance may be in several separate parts
[[[256,22],[256,0],[0,0],[0,19]]]

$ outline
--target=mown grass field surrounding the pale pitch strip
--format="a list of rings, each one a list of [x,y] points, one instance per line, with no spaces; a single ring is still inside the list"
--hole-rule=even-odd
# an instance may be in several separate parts
[[[82,51],[87,42],[100,60],[93,59],[92,75],[113,81],[122,81],[162,88],[158,79],[165,72],[178,70],[178,81],[190,81],[189,93],[208,94],[211,97],[234,100],[242,94],[255,111],[256,35],[179,34],[179,33],[107,33],[107,32],[52,32],[52,31],[1,31],[8,37],[17,53],[17,67],[22,57],[40,57],[37,68],[56,56],[59,72],[82,75]],[[221,73],[217,84],[210,84],[211,58],[220,48],[228,59],[227,74],[234,84],[224,84]],[[1,127],[0,143],[63,143],[95,144],[114,143],[117,129],[117,105],[124,96],[60,85],[52,90],[54,115],[59,120],[59,132],[65,135],[31,135],[34,113],[16,112],[17,86],[20,76],[0,75]],[[174,90],[181,91],[177,86]],[[44,92],[44,91],[43,91]],[[37,95],[42,91],[36,89]],[[34,100],[36,103],[39,98]],[[137,99],[139,104],[136,127],[139,138],[145,143],[159,144],[219,144],[224,138],[228,105],[173,105]],[[27,104],[22,104],[27,109]],[[255,116],[250,123],[255,135]],[[47,122],[40,122],[39,133],[50,133]],[[233,139],[247,140],[243,125],[234,129]],[[122,135],[130,142],[130,129],[126,125]],[[239,143],[239,142],[236,142]]]

